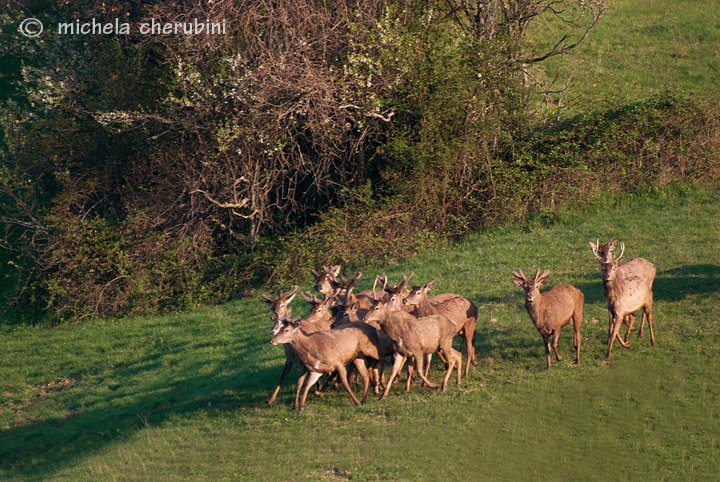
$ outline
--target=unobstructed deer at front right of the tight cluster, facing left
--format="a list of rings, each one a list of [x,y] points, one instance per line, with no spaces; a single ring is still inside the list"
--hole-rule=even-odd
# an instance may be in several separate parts
[[[365,314],[366,323],[377,322],[395,345],[393,369],[380,400],[387,398],[392,383],[409,357],[415,358],[418,376],[430,388],[437,388],[426,376],[423,363],[427,355],[440,351],[447,359],[447,372],[440,391],[444,392],[453,369],[457,369],[457,383],[461,383],[462,355],[452,347],[455,323],[442,315],[416,318],[403,309],[391,309],[389,303],[376,299]]]

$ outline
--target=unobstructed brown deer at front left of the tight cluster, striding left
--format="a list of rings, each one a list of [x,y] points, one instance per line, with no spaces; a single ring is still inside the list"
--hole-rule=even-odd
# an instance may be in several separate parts
[[[309,373],[304,383],[302,398],[296,403],[298,413],[302,413],[305,409],[305,401],[310,388],[324,373],[337,372],[343,387],[350,394],[355,405],[364,404],[370,386],[364,356],[375,359],[379,357],[377,331],[369,325],[356,323],[335,330],[307,333],[303,330],[303,324],[298,320],[299,317],[282,318],[279,330],[273,334],[270,340],[273,345],[290,345]],[[345,366],[350,363],[354,364],[363,380],[363,393],[360,401],[347,380]]]

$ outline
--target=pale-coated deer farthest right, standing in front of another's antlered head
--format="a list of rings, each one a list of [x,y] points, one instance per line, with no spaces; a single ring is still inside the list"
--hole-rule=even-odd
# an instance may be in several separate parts
[[[638,336],[643,335],[643,327],[647,319],[650,328],[650,344],[655,346],[655,333],[652,319],[652,283],[655,279],[655,266],[643,258],[635,258],[622,264],[625,245],[620,243],[620,256],[612,261],[602,263],[603,292],[608,302],[611,323],[608,333],[608,351],[605,359],[609,360],[613,341],[617,338],[623,348],[629,348],[627,337],[635,320],[634,313],[643,309]],[[625,339],[620,338],[620,325],[629,318]]]

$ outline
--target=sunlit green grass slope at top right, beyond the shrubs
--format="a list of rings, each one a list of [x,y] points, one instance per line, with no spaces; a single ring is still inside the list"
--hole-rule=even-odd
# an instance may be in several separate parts
[[[631,104],[666,90],[715,100],[720,93],[719,2],[607,3],[605,16],[572,59],[543,63],[551,77],[558,69],[574,72],[563,102],[570,114]]]

